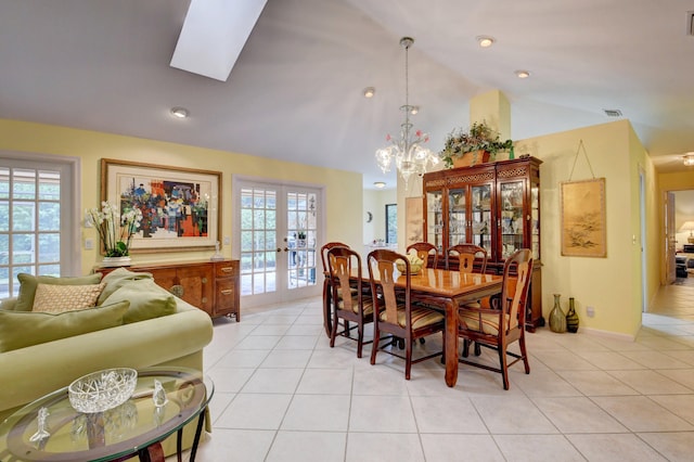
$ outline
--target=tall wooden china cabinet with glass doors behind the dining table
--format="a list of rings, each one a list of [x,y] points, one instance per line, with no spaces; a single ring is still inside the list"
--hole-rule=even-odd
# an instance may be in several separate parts
[[[535,157],[424,175],[424,239],[445,252],[471,243],[487,249],[487,272],[501,274],[504,259],[530,248],[535,270],[527,328],[544,325],[540,260],[540,164]]]

